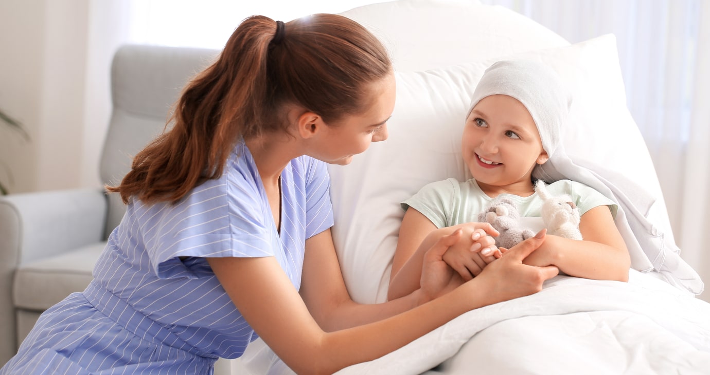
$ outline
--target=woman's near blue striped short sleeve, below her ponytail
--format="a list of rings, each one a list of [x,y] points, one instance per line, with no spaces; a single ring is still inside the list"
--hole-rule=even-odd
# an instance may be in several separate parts
[[[178,203],[160,203],[143,213],[143,242],[158,277],[209,274],[209,268],[204,269],[209,267],[207,262],[185,257],[275,254],[278,235],[254,172],[249,165],[234,165],[219,179],[195,187]]]

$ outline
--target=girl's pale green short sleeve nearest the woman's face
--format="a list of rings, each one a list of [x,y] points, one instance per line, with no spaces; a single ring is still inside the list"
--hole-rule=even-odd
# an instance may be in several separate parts
[[[448,226],[452,216],[454,196],[458,186],[456,179],[445,179],[425,185],[414,196],[401,203],[406,211],[414,208],[431,220],[437,228]]]

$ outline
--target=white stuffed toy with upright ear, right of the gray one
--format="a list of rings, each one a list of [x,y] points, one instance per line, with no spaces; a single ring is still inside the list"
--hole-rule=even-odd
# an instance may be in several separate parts
[[[547,191],[545,181],[535,182],[535,191],[542,198],[542,222],[545,223],[547,233],[559,237],[581,240],[579,232],[579,218],[581,213],[574,205],[572,198],[567,194],[551,196]]]

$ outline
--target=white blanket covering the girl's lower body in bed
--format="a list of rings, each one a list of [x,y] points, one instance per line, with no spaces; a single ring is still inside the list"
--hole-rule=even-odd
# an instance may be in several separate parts
[[[710,374],[710,304],[633,270],[629,283],[557,276],[337,374],[424,372]]]

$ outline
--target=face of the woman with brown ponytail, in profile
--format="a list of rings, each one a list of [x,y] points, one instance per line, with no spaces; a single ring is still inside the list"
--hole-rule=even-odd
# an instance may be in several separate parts
[[[364,113],[346,116],[337,125],[326,126],[319,147],[310,156],[330,164],[349,164],[371,142],[387,139],[387,121],[395,106],[395,77],[389,74],[369,86],[372,103]]]

